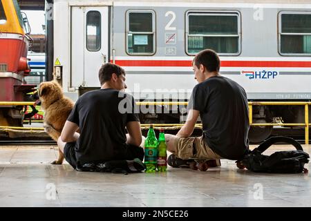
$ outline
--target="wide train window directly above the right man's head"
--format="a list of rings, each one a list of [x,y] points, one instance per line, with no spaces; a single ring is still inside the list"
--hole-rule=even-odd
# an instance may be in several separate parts
[[[187,53],[211,48],[220,55],[240,53],[240,22],[236,12],[188,12]]]

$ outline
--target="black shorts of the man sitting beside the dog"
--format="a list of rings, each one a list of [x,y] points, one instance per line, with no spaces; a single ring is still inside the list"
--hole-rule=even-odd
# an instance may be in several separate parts
[[[126,153],[124,154],[125,159],[113,159],[113,160],[133,160],[139,158],[144,160],[144,149],[140,146],[134,146],[131,144],[126,144]],[[64,147],[64,157],[68,164],[73,166],[73,169],[77,167],[77,157],[75,156],[75,142],[66,143]]]

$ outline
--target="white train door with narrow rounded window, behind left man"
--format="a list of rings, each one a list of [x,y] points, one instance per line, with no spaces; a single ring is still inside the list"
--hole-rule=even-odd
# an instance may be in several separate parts
[[[72,87],[99,87],[98,70],[109,58],[109,10],[106,6],[71,8]]]

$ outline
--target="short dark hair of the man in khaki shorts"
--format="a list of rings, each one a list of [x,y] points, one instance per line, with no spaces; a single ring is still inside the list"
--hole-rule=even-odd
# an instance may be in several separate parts
[[[208,72],[219,71],[220,69],[220,59],[217,53],[211,49],[205,49],[194,57],[192,64],[195,64],[198,68],[200,68],[200,64],[205,66]]]

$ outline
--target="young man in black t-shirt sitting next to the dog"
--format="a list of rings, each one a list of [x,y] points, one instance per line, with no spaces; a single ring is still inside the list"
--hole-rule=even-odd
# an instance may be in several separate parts
[[[99,78],[102,87],[77,99],[57,142],[74,169],[144,157],[135,101],[122,92],[126,88],[124,70],[115,64],[104,64]]]

